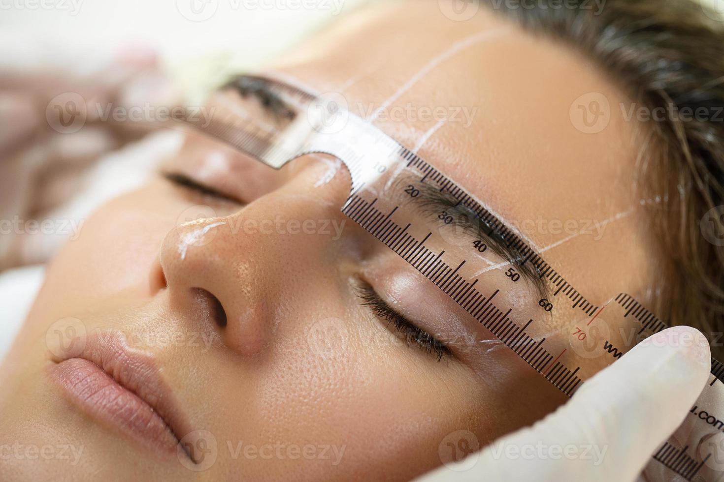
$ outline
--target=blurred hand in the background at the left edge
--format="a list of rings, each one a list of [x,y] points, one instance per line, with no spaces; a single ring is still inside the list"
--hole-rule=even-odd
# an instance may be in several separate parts
[[[94,207],[140,184],[172,148],[167,139],[130,149],[153,119],[109,113],[180,104],[153,50],[1,40],[0,271],[45,262]]]

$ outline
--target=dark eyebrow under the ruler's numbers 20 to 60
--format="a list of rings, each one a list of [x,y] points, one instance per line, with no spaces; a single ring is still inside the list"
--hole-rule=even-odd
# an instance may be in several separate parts
[[[409,201],[418,212],[429,217],[428,220],[432,222],[438,221],[439,216],[443,212],[447,212],[452,217],[450,225],[461,228],[463,233],[470,237],[471,242],[483,241],[494,254],[517,267],[521,276],[542,297],[547,296],[548,289],[543,280],[543,273],[534,263],[529,262],[530,254],[523,256],[523,253],[515,246],[516,240],[513,236],[500,231],[500,229],[482,219],[477,212],[458,201],[447,191],[441,191],[431,184],[426,184],[424,178],[421,179],[411,173],[404,173],[395,179],[395,184],[395,191],[414,184],[420,194],[417,197],[410,197]],[[533,251],[533,254],[537,253]]]

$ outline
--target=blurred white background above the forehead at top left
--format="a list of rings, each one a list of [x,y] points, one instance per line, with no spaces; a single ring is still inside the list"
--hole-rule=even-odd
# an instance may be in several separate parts
[[[2,0],[0,31],[67,48],[150,46],[174,70],[210,55],[233,57],[253,68],[363,2]]]

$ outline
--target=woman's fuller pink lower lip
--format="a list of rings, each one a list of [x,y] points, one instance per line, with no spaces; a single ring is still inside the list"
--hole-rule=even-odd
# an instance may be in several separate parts
[[[53,366],[51,377],[88,416],[140,442],[167,452],[175,451],[176,436],[151,405],[122,387],[95,363],[70,358]]]

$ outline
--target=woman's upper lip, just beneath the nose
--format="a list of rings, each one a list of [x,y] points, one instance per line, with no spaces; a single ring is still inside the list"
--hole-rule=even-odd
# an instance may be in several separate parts
[[[153,356],[130,348],[121,332],[109,330],[88,335],[80,353],[54,361],[61,363],[72,358],[95,363],[117,384],[137,395],[161,417],[177,442],[190,431]]]

